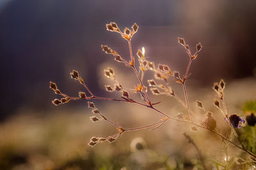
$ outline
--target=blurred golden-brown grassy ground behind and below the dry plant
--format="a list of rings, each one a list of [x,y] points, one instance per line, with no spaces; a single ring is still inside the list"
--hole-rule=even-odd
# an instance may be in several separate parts
[[[126,81],[129,80],[126,78]],[[121,81],[121,80],[120,80]],[[123,83],[128,83],[125,80]],[[193,84],[193,81],[191,81]],[[245,101],[255,99],[255,78],[235,80],[227,83],[226,101],[231,113],[245,117],[242,108]],[[176,90],[182,94],[182,91]],[[204,107],[214,112],[218,129],[223,134],[230,132],[230,127],[213,106],[214,92],[211,87],[188,86],[191,110],[196,117],[204,113],[195,107],[196,99],[204,101]],[[172,97],[156,97],[163,101],[161,110],[175,115],[185,111]],[[117,118],[124,127],[138,127],[155,122],[159,115],[143,106],[113,101],[95,102],[112,120]],[[70,102],[68,104],[74,104]],[[165,106],[165,107],[164,107]],[[64,107],[64,108],[63,108]],[[236,159],[250,160],[246,154],[230,146],[227,148],[220,139],[210,132],[198,129],[191,131],[189,125],[169,121],[154,131],[127,132],[114,143],[102,143],[93,148],[87,145],[92,136],[109,136],[115,132],[106,122],[91,122],[92,115],[87,103],[84,108],[65,110],[65,105],[58,110],[49,111],[35,117],[34,111],[20,110],[20,114],[1,124],[0,166],[2,169],[193,169],[202,167],[198,153],[193,145],[184,138],[187,132],[195,141],[205,157],[207,165],[227,164],[231,160],[232,168],[248,169],[249,165],[237,165]],[[246,125],[248,126],[248,125]],[[243,129],[243,127],[242,127]],[[240,155],[241,153],[241,155]],[[216,163],[217,162],[217,163]],[[228,162],[230,163],[230,162]]]

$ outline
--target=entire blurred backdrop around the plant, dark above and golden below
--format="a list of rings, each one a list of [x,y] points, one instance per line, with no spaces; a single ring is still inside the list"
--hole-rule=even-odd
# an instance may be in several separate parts
[[[199,99],[208,104],[209,110],[216,111],[212,108],[211,86],[223,78],[230,111],[241,112],[246,101],[256,99],[255,6],[256,1],[238,0],[0,1],[0,167],[147,169],[150,165],[157,169],[171,165],[182,169],[187,158],[191,158],[188,167],[192,167],[196,152],[175,124],[156,131],[127,133],[113,144],[89,148],[87,142],[92,136],[106,137],[115,129],[102,122],[92,124],[92,113],[83,101],[53,106],[51,101],[58,96],[49,89],[49,81],[70,96],[77,96],[84,89],[70,79],[70,71],[76,69],[97,96],[118,97],[104,90],[104,84],[110,81],[104,78],[103,69],[110,66],[122,85],[132,88],[138,83],[132,79],[134,73],[104,54],[100,45],[108,45],[128,59],[127,42],[106,31],[105,25],[116,22],[123,30],[136,22],[140,28],[132,38],[134,54],[144,46],[148,60],[167,64],[180,73],[184,73],[188,56],[177,37],[184,38],[192,52],[198,42],[204,46],[191,67],[191,105]],[[180,90],[177,86],[177,93],[182,95]],[[170,114],[184,111],[172,98],[156,97],[156,102],[159,100],[164,101],[159,108]],[[95,104],[126,127],[146,125],[159,117],[130,104]],[[134,154],[130,145],[136,137],[147,143],[141,155]],[[199,146],[209,147],[205,145],[203,142]],[[182,166],[179,162],[183,162]]]

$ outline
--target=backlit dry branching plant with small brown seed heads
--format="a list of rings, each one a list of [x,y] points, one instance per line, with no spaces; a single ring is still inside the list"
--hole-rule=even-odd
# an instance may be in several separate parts
[[[200,52],[200,50],[202,50],[201,43],[198,43],[196,45],[195,53],[191,53],[189,45],[186,44],[186,42],[184,41],[184,38],[178,38],[178,42],[180,43],[180,45],[184,46],[184,49],[186,50],[186,53],[188,54],[188,57],[189,57],[188,66],[184,71],[185,74],[180,75],[178,71],[173,71],[172,69],[170,69],[170,67],[166,66],[165,64],[158,64],[158,66],[156,67],[154,62],[147,60],[147,57],[145,57],[145,48],[138,50],[138,52],[136,53],[138,57],[138,63],[140,64],[139,71],[138,71],[138,68],[136,68],[135,66],[136,59],[132,53],[132,45],[131,45],[132,36],[134,36],[134,34],[138,31],[138,28],[139,28],[138,25],[134,24],[132,25],[131,29],[125,27],[124,32],[122,32],[120,31],[118,25],[115,22],[106,24],[106,29],[108,31],[116,32],[120,34],[120,36],[122,36],[122,38],[127,41],[129,46],[130,59],[129,60],[124,59],[115,50],[112,50],[107,45],[101,45],[102,50],[107,54],[113,55],[114,60],[116,60],[117,62],[120,62],[120,64],[124,64],[124,66],[130,67],[134,71],[139,82],[138,85],[134,85],[133,90],[127,90],[123,87],[123,85],[121,85],[121,83],[118,80],[116,80],[115,73],[112,68],[108,67],[104,69],[105,76],[113,80],[113,83],[114,83],[114,85],[105,85],[106,90],[108,92],[114,92],[114,91],[120,92],[121,94],[120,99],[96,96],[87,87],[83,78],[81,78],[80,74],[76,70],[73,70],[72,73],[70,73],[71,78],[79,81],[79,83],[81,83],[81,85],[83,85],[87,91],[87,92],[79,92],[78,97],[70,97],[67,94],[62,93],[58,89],[56,83],[50,82],[50,88],[54,90],[56,94],[63,97],[61,99],[54,99],[52,101],[54,105],[58,106],[60,104],[68,103],[68,101],[70,100],[83,99],[87,101],[88,107],[92,108],[93,117],[90,117],[90,119],[93,122],[98,122],[99,120],[105,120],[106,122],[113,125],[113,127],[117,129],[116,134],[113,134],[112,136],[108,136],[106,138],[92,137],[88,145],[95,146],[98,143],[102,143],[104,141],[108,141],[109,143],[111,143],[115,141],[120,135],[124,134],[125,132],[139,131],[141,129],[147,129],[147,128],[157,129],[158,127],[163,125],[165,122],[176,121],[176,122],[190,125],[191,130],[193,131],[197,131],[198,128],[202,128],[202,129],[205,129],[206,131],[211,132],[212,134],[215,134],[216,136],[218,136],[218,138],[220,138],[221,142],[225,143],[225,146],[228,147],[230,145],[234,145],[236,148],[239,148],[243,152],[248,153],[252,159],[252,162],[255,161],[256,155],[254,153],[250,152],[250,150],[246,150],[246,148],[244,148],[244,146],[242,145],[241,141],[239,144],[237,144],[234,141],[234,139],[238,137],[236,129],[241,127],[241,124],[244,124],[244,119],[239,117],[239,115],[237,115],[236,113],[234,114],[228,113],[228,108],[227,108],[227,105],[225,104],[225,97],[224,97],[225,82],[223,80],[221,80],[219,83],[214,83],[212,87],[214,92],[216,92],[216,99],[214,99],[213,104],[218,108],[218,110],[221,111],[227,124],[230,126],[230,129],[231,129],[230,134],[228,136],[225,136],[216,129],[217,127],[216,120],[214,119],[214,117],[212,117],[211,112],[205,110],[204,105],[201,101],[196,101],[196,106],[200,108],[202,111],[204,111],[205,118],[200,122],[195,122],[193,120],[195,113],[193,113],[193,111],[189,107],[188,93],[186,90],[186,81],[188,80],[189,75],[191,74],[189,73],[189,68],[191,67],[192,62],[197,59],[198,53]],[[143,77],[146,71],[154,72],[154,78],[147,80],[148,86],[145,85],[145,80],[143,80]],[[184,91],[184,101],[179,96],[177,96],[177,94],[175,94],[173,89],[170,87],[167,81],[168,76],[171,76],[175,82],[181,85]],[[157,83],[155,80],[163,81],[164,85]],[[184,106],[184,108],[186,108],[188,113],[187,114],[179,113],[175,115],[175,117],[173,117],[171,115],[168,115],[167,113],[164,113],[161,110],[158,110],[156,108],[156,105],[159,104],[160,102],[152,103],[152,99],[150,99],[150,97],[148,96],[148,89],[154,95],[166,95],[166,96],[174,97],[175,99],[177,99],[177,101],[179,101],[180,104],[182,104],[182,106]],[[139,94],[141,96],[141,101],[136,101],[132,99],[132,96],[129,94],[130,92],[135,92],[136,94]],[[113,122],[112,120],[107,118],[105,115],[103,115],[99,111],[99,109],[95,106],[95,104],[92,102],[92,100],[106,100],[106,101],[139,104],[141,106],[144,106],[146,108],[150,108],[156,111],[163,117],[159,118],[158,122],[154,124],[148,124],[143,127],[134,127],[134,128],[127,129],[122,127],[122,125],[120,125],[118,122]],[[188,136],[186,136],[186,138],[189,139],[189,142],[195,145],[195,143],[192,142],[192,140]],[[237,139],[239,141],[239,138]],[[202,154],[201,154],[201,157],[202,157]]]

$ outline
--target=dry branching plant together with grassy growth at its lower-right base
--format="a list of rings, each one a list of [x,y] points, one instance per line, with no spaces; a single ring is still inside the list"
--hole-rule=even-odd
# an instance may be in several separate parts
[[[125,39],[128,43],[130,52],[129,60],[125,59],[125,57],[121,57],[121,55],[119,55],[115,50],[109,48],[109,46],[107,45],[101,45],[101,47],[105,53],[113,55],[114,59],[117,62],[120,62],[120,64],[123,64],[123,66],[129,67],[134,71],[134,74],[138,79],[137,82],[134,82],[134,89],[129,89],[128,87],[125,87],[125,84],[118,81],[115,72],[111,67],[107,67],[106,69],[104,69],[104,74],[106,77],[113,81],[113,84],[105,85],[105,89],[108,92],[120,93],[120,98],[96,96],[90,90],[90,88],[86,86],[85,81],[76,70],[73,70],[72,73],[70,73],[71,77],[74,80],[79,81],[79,83],[81,83],[81,85],[83,85],[86,89],[86,92],[79,92],[78,97],[70,97],[67,94],[64,94],[60,91],[60,89],[58,89],[56,83],[50,82],[50,88],[54,90],[56,94],[63,97],[61,99],[54,99],[52,101],[53,104],[58,106],[60,104],[68,103],[68,101],[70,100],[85,100],[88,103],[88,108],[92,109],[93,116],[90,117],[90,120],[92,120],[92,122],[99,122],[100,120],[104,120],[108,122],[111,126],[115,127],[115,129],[117,130],[116,133],[108,137],[92,137],[90,139],[90,142],[88,143],[89,146],[95,146],[98,143],[102,143],[104,141],[113,143],[118,137],[122,136],[126,132],[140,131],[141,129],[155,130],[167,122],[170,122],[172,124],[173,122],[175,122],[175,126],[179,126],[179,129],[182,129],[182,127],[184,126],[188,126],[190,127],[191,131],[195,131],[196,135],[201,136],[201,138],[204,138],[205,135],[209,136],[210,134],[205,134],[202,131],[198,131],[199,129],[204,129],[205,131],[210,132],[215,136],[213,137],[212,135],[210,135],[209,140],[212,140],[213,138],[218,139],[219,145],[222,145],[222,150],[225,150],[225,162],[221,163],[211,157],[207,157],[207,159],[212,160],[215,168],[232,169],[235,168],[235,164],[239,165],[239,168],[254,167],[253,164],[255,164],[256,159],[254,146],[255,130],[253,127],[255,125],[255,110],[246,110],[248,114],[248,116],[246,117],[248,125],[246,126],[252,126],[253,130],[251,132],[251,136],[254,136],[248,144],[248,141],[246,143],[246,140],[244,141],[244,139],[242,138],[243,131],[245,131],[244,129],[246,128],[243,127],[243,131],[240,131],[241,126],[245,126],[245,119],[236,113],[230,113],[227,104],[225,103],[225,81],[220,80],[220,82],[214,83],[212,90],[214,90],[216,96],[214,98],[213,105],[216,106],[218,111],[221,113],[222,119],[225,119],[225,124],[229,127],[229,131],[227,130],[227,127],[225,127],[225,125],[221,125],[221,118],[219,116],[216,116],[220,114],[218,113],[218,111],[214,110],[217,113],[212,113],[212,111],[208,111],[208,109],[204,106],[204,102],[198,100],[196,100],[196,106],[197,108],[199,108],[199,110],[192,110],[191,106],[189,105],[189,94],[186,83],[189,75],[191,74],[189,73],[189,68],[191,67],[191,64],[198,58],[198,53],[200,52],[200,50],[202,50],[201,43],[198,43],[196,45],[195,53],[192,53],[189,45],[186,44],[185,40],[183,38],[178,38],[178,42],[184,47],[189,57],[188,66],[182,74],[179,73],[179,71],[175,71],[172,68],[166,66],[165,64],[156,65],[154,64],[154,62],[148,60],[145,56],[144,48],[141,48],[136,53],[138,57],[138,62],[136,62],[136,57],[133,55],[132,52],[131,39],[132,36],[134,36],[134,34],[136,34],[136,32],[138,31],[139,27],[137,24],[132,25],[131,29],[125,27],[124,32],[120,31],[118,25],[115,22],[106,24],[106,28],[108,31],[117,32],[118,34],[120,34],[120,36],[122,36],[122,38]],[[154,73],[154,78],[145,80],[145,73],[150,71]],[[172,87],[170,87],[169,77],[182,87],[184,99],[177,95],[179,93],[176,93],[176,90],[173,90]],[[184,107],[184,109],[181,111],[186,110],[186,112],[167,113],[166,111],[160,110],[157,107],[164,102],[156,101],[156,99],[153,99],[153,97],[150,96],[148,92],[151,92],[156,96],[164,95],[173,97],[179,102],[180,106]],[[138,96],[140,96],[140,98],[138,98]],[[200,98],[200,96],[198,96],[198,98]],[[103,114],[102,111],[97,108],[96,104],[92,102],[95,100],[116,101],[119,103],[140,105],[141,107],[144,107],[145,110],[152,110],[159,114],[159,118],[157,118],[157,122],[154,122],[152,124],[143,125],[141,127],[131,127],[132,125],[129,125],[130,127],[126,128],[123,124],[120,124],[118,120],[113,120],[113,118],[109,118],[106,116],[106,114]],[[132,110],[132,112],[138,112],[138,110],[134,109]],[[145,117],[147,116],[144,115],[143,117],[140,117],[141,119],[139,119],[139,117],[140,116],[138,115],[138,117],[134,117],[134,119],[136,119],[136,121],[143,120],[146,119]],[[218,119],[216,117],[218,117]],[[125,126],[127,126],[127,124],[125,124]],[[182,131],[180,131],[180,133],[182,133]],[[202,146],[202,143],[196,143],[195,141],[193,141],[193,136],[191,138],[189,134],[184,134],[184,136],[188,139],[189,143],[191,143],[195,147],[195,152],[197,152],[199,155],[198,166],[196,166],[196,168],[212,169],[212,164],[209,164],[209,161],[205,162],[204,150],[202,153],[198,148]],[[204,142],[207,141],[204,140]],[[237,150],[230,150],[229,148],[237,148]],[[209,156],[211,155],[214,154],[209,154]],[[232,155],[232,157],[230,155]]]

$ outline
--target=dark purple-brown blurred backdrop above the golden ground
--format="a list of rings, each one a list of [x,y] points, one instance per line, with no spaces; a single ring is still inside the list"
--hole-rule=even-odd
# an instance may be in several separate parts
[[[256,66],[256,1],[88,1],[5,0],[0,3],[0,120],[17,109],[48,110],[54,99],[49,81],[75,93],[72,69],[98,94],[98,66],[113,62],[100,44],[128,57],[127,43],[105,24],[121,29],[136,22],[134,53],[145,46],[150,60],[183,70],[188,62],[177,37],[204,49],[193,63],[191,79],[209,86],[225,78],[253,76]],[[117,64],[113,62],[113,64]],[[74,105],[72,105],[74,106]]]

